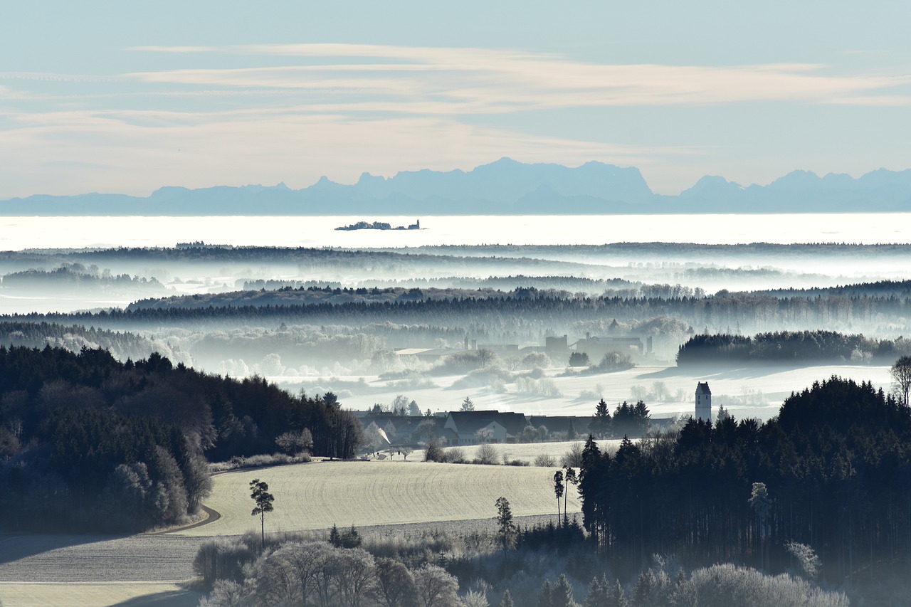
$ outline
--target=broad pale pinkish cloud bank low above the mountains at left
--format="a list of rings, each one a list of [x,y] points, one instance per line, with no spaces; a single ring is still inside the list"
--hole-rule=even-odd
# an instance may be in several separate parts
[[[590,159],[647,167],[689,149],[623,146],[470,126],[449,117],[352,118],[343,113],[58,111],[36,114],[0,139],[5,196],[104,190],[148,194],[161,185],[286,182],[321,175],[353,182],[364,170],[469,170],[503,156],[578,165]],[[35,159],[41,159],[39,163]],[[90,159],[103,170],[82,170]],[[52,184],[48,173],[55,175]],[[11,184],[15,183],[15,189]],[[99,185],[102,184],[102,185]]]

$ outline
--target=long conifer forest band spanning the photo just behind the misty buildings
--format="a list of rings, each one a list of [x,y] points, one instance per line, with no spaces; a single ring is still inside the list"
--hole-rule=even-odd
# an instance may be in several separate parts
[[[416,293],[415,293],[416,295]],[[644,319],[671,316],[693,326],[774,327],[791,325],[911,325],[911,298],[868,296],[787,297],[749,293],[713,297],[559,297],[535,289],[484,298],[419,299],[383,303],[221,305],[204,308],[144,307],[97,313],[12,314],[6,319],[95,324],[107,327],[161,324],[255,324],[268,321],[303,324],[409,323],[458,326],[508,326],[522,319],[559,319],[561,325],[607,318]],[[493,331],[491,331],[493,332]]]

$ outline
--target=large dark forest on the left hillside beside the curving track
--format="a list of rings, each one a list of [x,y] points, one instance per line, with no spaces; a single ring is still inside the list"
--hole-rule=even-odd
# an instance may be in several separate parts
[[[309,432],[315,455],[351,458],[360,422],[332,394],[292,396],[107,351],[0,346],[4,525],[146,529],[192,514],[208,460],[271,453]],[[109,516],[98,517],[98,512]]]

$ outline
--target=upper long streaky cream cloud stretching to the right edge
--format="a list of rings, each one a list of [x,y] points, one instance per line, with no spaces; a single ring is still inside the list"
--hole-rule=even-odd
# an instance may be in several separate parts
[[[295,57],[304,64],[128,75],[145,82],[345,91],[368,105],[374,96],[421,96],[448,99],[454,112],[470,113],[751,101],[856,105],[911,83],[907,75],[830,75],[826,66],[815,64],[599,65],[552,54],[480,48],[314,44],[137,50]],[[403,111],[414,109],[406,104]]]

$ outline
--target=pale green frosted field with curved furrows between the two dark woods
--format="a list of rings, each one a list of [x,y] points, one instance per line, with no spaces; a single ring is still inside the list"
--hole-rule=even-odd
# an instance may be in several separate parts
[[[266,530],[300,531],[351,525],[396,525],[443,520],[492,519],[503,496],[517,517],[556,509],[554,468],[469,466],[423,462],[337,461],[239,470],[214,478],[206,505],[220,520],[183,536],[238,535],[259,530],[251,517],[249,484],[260,478],[275,496]],[[569,511],[579,511],[575,492]]]

